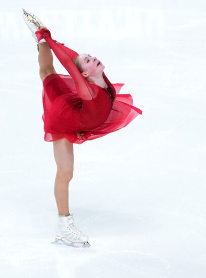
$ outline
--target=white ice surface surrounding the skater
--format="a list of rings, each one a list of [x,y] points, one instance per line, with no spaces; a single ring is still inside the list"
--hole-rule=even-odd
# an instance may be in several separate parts
[[[50,244],[56,163],[22,8],[102,61],[143,111],[74,144],[69,210],[88,249]],[[205,1],[4,1],[0,40],[0,277],[205,278]],[[54,66],[68,74],[55,55]]]

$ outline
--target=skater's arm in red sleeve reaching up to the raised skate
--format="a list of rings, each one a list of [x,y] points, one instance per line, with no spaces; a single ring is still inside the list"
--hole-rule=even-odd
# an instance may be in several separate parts
[[[57,40],[53,39],[48,29],[42,28],[39,31],[36,31],[35,34],[38,41],[42,38],[46,40],[50,49],[53,50],[58,60],[72,76],[75,81],[79,97],[82,100],[92,100],[95,98],[96,92],[93,91],[89,82],[82,76],[79,69],[72,61],[76,56],[78,56],[78,53],[65,47],[64,43],[59,43]]]

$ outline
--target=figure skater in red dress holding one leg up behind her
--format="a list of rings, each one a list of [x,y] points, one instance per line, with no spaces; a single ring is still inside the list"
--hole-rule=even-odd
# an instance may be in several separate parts
[[[132,105],[130,94],[119,94],[124,83],[111,83],[96,57],[79,55],[53,39],[39,18],[24,9],[23,18],[37,42],[44,140],[53,142],[57,164],[54,193],[59,215],[53,243],[89,247],[88,236],[74,226],[73,213],[69,212],[73,143],[82,144],[117,131],[142,111]],[[50,49],[70,75],[55,71]]]

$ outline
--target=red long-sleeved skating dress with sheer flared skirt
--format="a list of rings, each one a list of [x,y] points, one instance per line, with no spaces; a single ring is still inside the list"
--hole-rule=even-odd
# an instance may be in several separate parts
[[[134,107],[130,94],[119,94],[124,83],[112,84],[105,73],[108,87],[89,83],[73,62],[78,53],[51,37],[50,31],[36,31],[38,41],[46,40],[70,75],[52,73],[43,80],[44,140],[67,138],[82,144],[128,125],[142,111]]]

